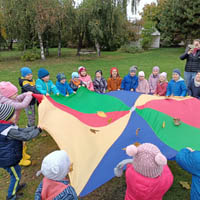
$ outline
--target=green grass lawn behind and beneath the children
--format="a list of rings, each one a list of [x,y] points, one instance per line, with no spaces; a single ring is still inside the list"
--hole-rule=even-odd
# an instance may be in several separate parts
[[[111,67],[118,67],[120,76],[123,77],[129,72],[132,65],[137,65],[139,70],[143,70],[148,77],[155,65],[160,66],[161,71],[168,73],[168,80],[171,78],[172,70],[180,68],[182,73],[185,62],[179,60],[179,56],[184,52],[182,48],[165,48],[146,51],[141,54],[127,54],[120,52],[102,52],[100,58],[96,55],[75,56],[76,50],[62,49],[62,57],[56,57],[57,49],[50,50],[50,57],[46,61],[37,60],[34,62],[23,62],[20,60],[21,52],[0,52],[0,81],[11,81],[18,86],[18,77],[20,77],[20,68],[29,66],[33,70],[34,78],[37,78],[37,71],[40,67],[49,70],[52,81],[56,81],[58,72],[64,72],[70,79],[71,73],[77,71],[81,65],[85,66],[88,73],[94,77],[98,69],[103,70],[105,78],[109,77]],[[25,127],[27,123],[24,111],[21,113],[19,125]],[[31,142],[28,142],[28,152],[32,155],[32,166],[22,168],[22,181],[28,184],[24,190],[24,197],[21,199],[34,199],[34,192],[42,177],[36,178],[35,173],[40,169],[40,164],[45,155],[57,149],[57,145],[52,138],[39,136]],[[169,166],[174,174],[174,184],[167,192],[164,200],[189,200],[190,191],[183,189],[179,181],[191,183],[191,176],[184,172],[175,162],[170,161]],[[8,174],[0,169],[0,200],[5,199],[9,184]],[[98,188],[83,200],[123,200],[126,184],[125,177],[114,178],[102,187]]]

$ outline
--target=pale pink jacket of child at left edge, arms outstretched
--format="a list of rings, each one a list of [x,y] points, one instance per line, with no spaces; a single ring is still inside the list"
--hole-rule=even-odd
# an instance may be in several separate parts
[[[27,93],[18,95],[16,99],[9,99],[0,94],[0,103],[1,104],[9,104],[15,108],[15,110],[16,110],[15,123],[17,123],[19,120],[19,115],[20,115],[21,109],[26,108],[30,104],[31,100],[32,100],[32,96],[27,95]]]

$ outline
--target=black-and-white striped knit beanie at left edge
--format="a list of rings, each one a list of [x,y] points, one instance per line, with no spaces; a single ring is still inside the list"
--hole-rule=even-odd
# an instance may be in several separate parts
[[[15,114],[15,108],[8,104],[0,104],[0,120],[8,121]]]

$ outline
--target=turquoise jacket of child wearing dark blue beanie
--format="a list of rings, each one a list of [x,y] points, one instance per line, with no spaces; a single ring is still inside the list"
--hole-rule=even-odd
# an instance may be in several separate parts
[[[51,80],[48,82],[44,82],[42,79],[37,79],[36,81],[36,89],[41,93],[46,95],[48,94],[58,94],[59,91],[57,87],[53,84]]]

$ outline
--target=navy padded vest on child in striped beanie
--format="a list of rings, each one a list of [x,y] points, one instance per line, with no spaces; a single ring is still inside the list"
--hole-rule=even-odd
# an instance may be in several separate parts
[[[22,159],[22,141],[7,137],[11,127],[13,124],[0,123],[0,167],[15,166]]]

